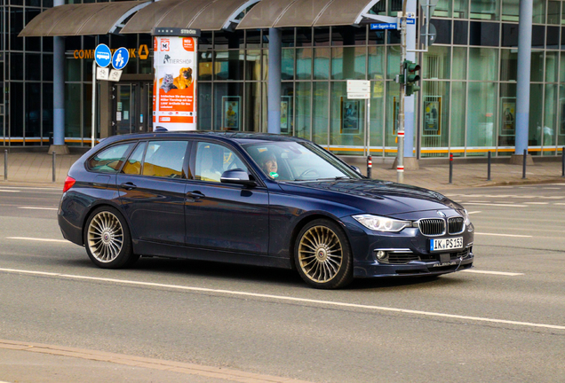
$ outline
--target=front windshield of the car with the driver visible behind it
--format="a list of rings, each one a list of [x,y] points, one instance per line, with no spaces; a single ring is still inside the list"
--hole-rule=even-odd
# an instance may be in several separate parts
[[[353,168],[310,143],[269,142],[243,145],[259,168],[276,181],[362,178]]]

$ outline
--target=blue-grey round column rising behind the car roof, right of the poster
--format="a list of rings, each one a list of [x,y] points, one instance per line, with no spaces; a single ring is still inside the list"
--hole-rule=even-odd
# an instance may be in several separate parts
[[[281,59],[283,33],[269,28],[269,60],[267,82],[267,131],[281,133]]]

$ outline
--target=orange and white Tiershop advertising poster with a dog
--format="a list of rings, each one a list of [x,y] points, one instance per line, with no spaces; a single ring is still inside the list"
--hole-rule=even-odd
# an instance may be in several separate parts
[[[153,129],[196,129],[195,37],[155,36]]]

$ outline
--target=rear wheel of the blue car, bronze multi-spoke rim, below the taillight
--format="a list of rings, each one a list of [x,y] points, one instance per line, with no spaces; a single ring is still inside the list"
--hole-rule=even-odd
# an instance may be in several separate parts
[[[131,248],[130,230],[114,207],[98,207],[84,231],[84,245],[91,261],[104,269],[119,269],[139,259]]]

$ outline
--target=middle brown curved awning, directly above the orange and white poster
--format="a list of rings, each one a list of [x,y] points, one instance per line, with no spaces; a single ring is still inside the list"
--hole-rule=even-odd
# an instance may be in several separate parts
[[[160,0],[129,20],[121,33],[151,33],[155,27],[201,30],[227,29],[237,17],[259,0]]]

